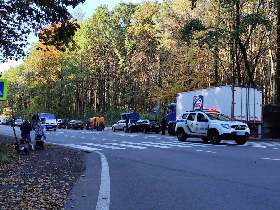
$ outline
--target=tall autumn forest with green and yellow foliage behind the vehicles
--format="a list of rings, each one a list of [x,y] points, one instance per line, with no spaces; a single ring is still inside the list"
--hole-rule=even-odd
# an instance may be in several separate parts
[[[40,38],[24,63],[4,71],[1,117],[116,122],[127,110],[151,118],[157,106],[160,118],[177,93],[230,84],[263,87],[265,104],[280,103],[279,1],[120,2],[72,16],[79,27],[69,44]]]

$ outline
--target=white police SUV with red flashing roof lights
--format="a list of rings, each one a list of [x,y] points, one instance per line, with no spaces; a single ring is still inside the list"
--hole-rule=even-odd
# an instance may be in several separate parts
[[[175,131],[179,141],[186,141],[187,137],[199,137],[211,144],[235,140],[242,145],[250,134],[248,125],[233,121],[216,109],[186,111],[176,121]]]

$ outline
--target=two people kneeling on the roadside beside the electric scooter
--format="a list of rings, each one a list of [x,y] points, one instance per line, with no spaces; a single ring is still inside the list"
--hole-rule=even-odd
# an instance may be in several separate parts
[[[30,133],[32,131],[31,123],[29,123],[29,118],[26,118],[24,123],[21,124],[20,130],[22,131],[22,139],[20,140],[20,144],[28,144],[29,150],[44,150],[46,140],[46,119],[41,118],[41,121],[38,122],[38,126],[35,130],[35,142],[36,144],[31,144],[31,136]]]

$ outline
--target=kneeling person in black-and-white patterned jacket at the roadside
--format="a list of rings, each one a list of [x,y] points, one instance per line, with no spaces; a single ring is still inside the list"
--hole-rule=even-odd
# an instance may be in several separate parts
[[[35,130],[35,141],[36,144],[31,144],[29,145],[29,148],[31,150],[44,150],[45,149],[45,143],[44,141],[46,140],[46,119],[41,118],[41,122],[38,122],[37,129]]]

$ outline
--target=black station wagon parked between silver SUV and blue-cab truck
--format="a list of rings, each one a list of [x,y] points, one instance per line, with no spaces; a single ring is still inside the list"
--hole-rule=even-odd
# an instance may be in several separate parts
[[[155,132],[159,134],[161,125],[157,120],[138,120],[134,125],[129,127],[129,132],[141,131],[143,134],[147,132]]]

